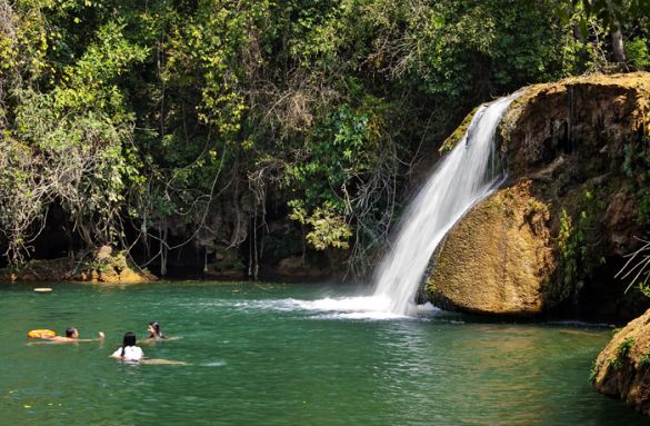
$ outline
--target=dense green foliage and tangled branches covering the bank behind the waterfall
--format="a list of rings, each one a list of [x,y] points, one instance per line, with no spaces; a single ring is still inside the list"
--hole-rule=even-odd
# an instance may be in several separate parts
[[[290,220],[363,273],[476,105],[608,68],[612,30],[649,67],[644,3],[590,4],[0,0],[0,245],[29,257],[57,209],[77,249],[164,274],[176,248],[230,248],[254,275],[304,250],[271,238]]]

